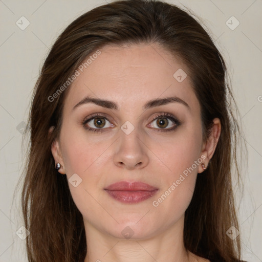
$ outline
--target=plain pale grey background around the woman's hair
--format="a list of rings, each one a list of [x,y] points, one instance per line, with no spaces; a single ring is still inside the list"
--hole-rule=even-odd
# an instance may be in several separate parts
[[[242,163],[244,194],[235,192],[243,259],[262,261],[262,1],[167,2],[182,8],[184,5],[200,17],[227,62],[249,155]],[[103,0],[0,0],[1,262],[27,261],[25,241],[16,235],[23,223],[18,206],[20,191],[15,186],[24,159],[21,133],[24,122],[27,122],[32,90],[41,65],[61,30],[82,13],[105,3]],[[24,30],[20,29],[21,22],[20,27],[16,25],[21,19],[24,19],[23,26],[26,25],[21,16],[30,23]],[[12,202],[14,192],[17,196]]]

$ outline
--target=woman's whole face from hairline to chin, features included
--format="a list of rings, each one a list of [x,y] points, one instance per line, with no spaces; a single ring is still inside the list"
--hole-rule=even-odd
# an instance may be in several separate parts
[[[154,236],[183,220],[206,164],[200,104],[186,66],[159,46],[100,52],[70,87],[52,153],[86,228]]]

